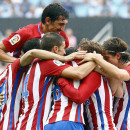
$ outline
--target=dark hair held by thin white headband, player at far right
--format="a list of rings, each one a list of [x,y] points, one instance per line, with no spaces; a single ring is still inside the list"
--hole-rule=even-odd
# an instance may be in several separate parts
[[[129,61],[129,53],[126,52],[128,49],[128,45],[125,41],[118,37],[112,37],[103,43],[104,51],[107,51],[109,54],[115,56],[116,53],[120,53],[119,61],[127,63]]]

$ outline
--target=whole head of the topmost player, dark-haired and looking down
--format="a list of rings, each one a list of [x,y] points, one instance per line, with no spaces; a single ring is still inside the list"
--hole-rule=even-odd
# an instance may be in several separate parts
[[[69,13],[59,3],[49,4],[42,13],[41,22],[48,32],[60,33],[68,23]]]

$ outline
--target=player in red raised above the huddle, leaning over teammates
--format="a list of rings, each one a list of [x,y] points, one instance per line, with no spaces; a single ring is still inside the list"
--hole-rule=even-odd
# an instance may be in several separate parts
[[[68,47],[69,41],[64,32],[68,18],[68,12],[60,4],[53,3],[48,5],[43,10],[41,22],[20,28],[0,42],[0,61],[12,63],[21,55],[22,47],[27,40],[41,38],[47,32],[56,32],[63,36],[66,39],[66,47]],[[14,57],[9,56],[6,52],[13,52]]]

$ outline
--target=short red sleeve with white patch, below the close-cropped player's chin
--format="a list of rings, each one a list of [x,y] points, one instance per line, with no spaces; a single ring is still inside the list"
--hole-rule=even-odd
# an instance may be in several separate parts
[[[62,63],[58,60],[47,60],[42,63],[43,69],[41,68],[41,70],[45,76],[60,76],[64,69],[70,67],[70,65]]]

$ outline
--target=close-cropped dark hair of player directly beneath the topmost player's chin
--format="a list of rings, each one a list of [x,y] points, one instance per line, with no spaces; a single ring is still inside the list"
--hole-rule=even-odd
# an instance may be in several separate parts
[[[55,32],[48,32],[46,33],[41,40],[41,47],[43,50],[51,51],[54,46],[60,47],[65,41],[65,39],[55,33]]]

